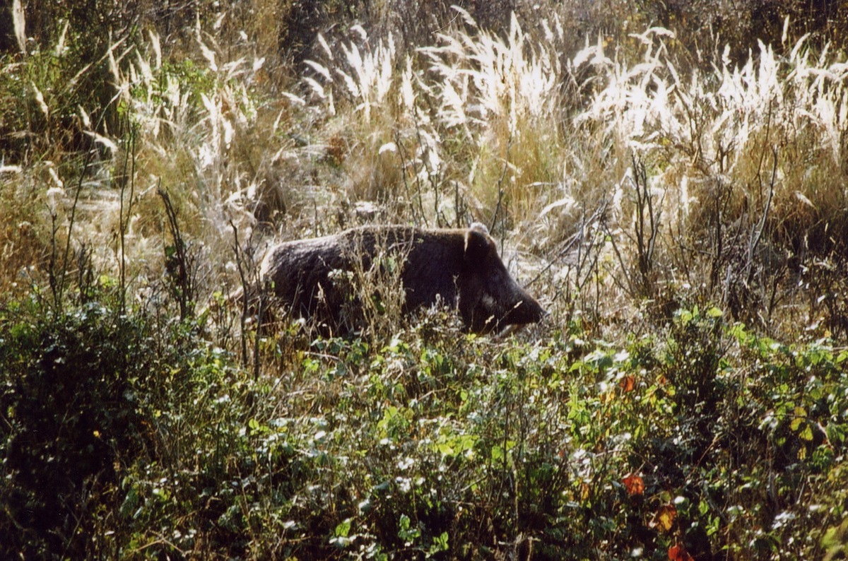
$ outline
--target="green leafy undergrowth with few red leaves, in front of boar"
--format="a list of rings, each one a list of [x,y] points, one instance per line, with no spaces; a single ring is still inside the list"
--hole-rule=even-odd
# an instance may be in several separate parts
[[[717,308],[616,342],[431,314],[382,340],[295,325],[256,377],[203,318],[100,300],[0,310],[3,557],[845,554],[848,353],[826,341]]]

